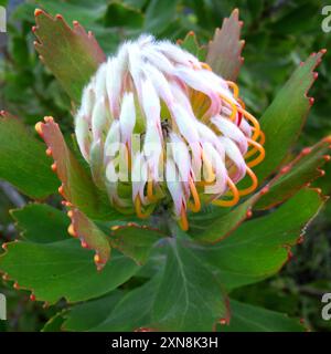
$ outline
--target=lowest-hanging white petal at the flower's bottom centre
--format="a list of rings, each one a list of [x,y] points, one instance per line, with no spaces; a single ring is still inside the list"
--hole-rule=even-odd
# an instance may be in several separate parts
[[[182,207],[183,205],[185,206],[185,197],[184,197],[182,184],[179,181],[179,178],[178,178],[175,164],[171,158],[167,159],[166,178],[167,178],[167,187],[173,200],[174,212],[177,216],[180,217]]]

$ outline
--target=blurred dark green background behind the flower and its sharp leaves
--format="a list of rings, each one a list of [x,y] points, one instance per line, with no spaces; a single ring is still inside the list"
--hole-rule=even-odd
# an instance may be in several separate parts
[[[35,7],[52,14],[62,13],[68,22],[78,20],[94,32],[108,54],[121,41],[141,32],[177,40],[193,30],[205,44],[214,29],[222,25],[223,18],[238,8],[246,41],[241,95],[258,117],[302,60],[311,52],[331,48],[331,32],[324,33],[321,28],[325,4],[328,1],[318,0],[0,0],[0,6],[8,10],[8,33],[0,33],[0,108],[19,116],[31,129],[44,115],[56,117],[67,132],[73,128],[70,100],[33,48]],[[293,154],[331,134],[330,58],[331,53],[327,53],[318,69],[319,79],[310,92],[314,105]],[[325,177],[317,183],[325,194],[331,192],[330,165]],[[0,243],[18,236],[8,210],[26,201],[0,180]],[[330,205],[310,225],[305,242],[296,248],[292,259],[276,278],[236,290],[233,298],[301,317],[313,331],[331,330],[331,321],[323,321],[320,314],[321,296],[331,292]],[[6,293],[9,302],[9,321],[0,321],[0,331],[39,331],[65,305],[44,310],[30,302],[28,293],[1,281],[0,292]]]

